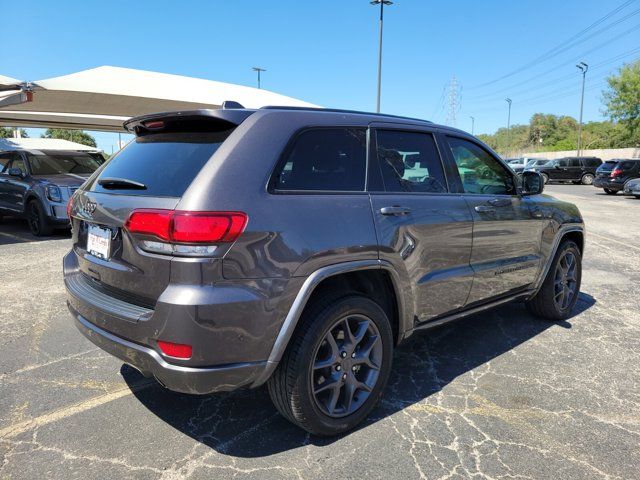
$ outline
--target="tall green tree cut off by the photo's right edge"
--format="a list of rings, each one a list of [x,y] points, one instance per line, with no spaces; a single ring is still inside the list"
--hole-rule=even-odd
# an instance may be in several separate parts
[[[626,128],[632,143],[640,143],[640,60],[623,65],[607,83],[603,92],[607,115]]]

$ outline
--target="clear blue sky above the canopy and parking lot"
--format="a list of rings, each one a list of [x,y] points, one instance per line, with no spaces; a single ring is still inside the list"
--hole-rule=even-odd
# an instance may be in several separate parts
[[[584,119],[602,119],[604,79],[640,57],[640,0],[533,61],[625,3],[396,0],[385,9],[382,111],[444,123],[443,92],[455,75],[457,126],[470,130],[474,116],[476,134],[506,124],[507,96],[512,124],[535,112],[577,117],[575,64],[583,60],[591,65]],[[368,0],[32,0],[0,30],[0,74],[37,80],[115,65],[255,86],[256,65],[267,69],[263,88],[372,111],[377,35],[378,9]],[[94,135],[107,152],[117,143],[114,134]]]

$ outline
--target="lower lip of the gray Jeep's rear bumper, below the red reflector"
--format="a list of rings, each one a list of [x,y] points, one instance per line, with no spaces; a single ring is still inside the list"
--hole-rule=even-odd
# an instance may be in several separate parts
[[[155,377],[169,390],[182,393],[207,394],[235,390],[253,383],[264,370],[266,362],[242,363],[211,368],[172,365],[155,350],[129,342],[96,327],[68,304],[75,325],[85,337],[107,353]]]

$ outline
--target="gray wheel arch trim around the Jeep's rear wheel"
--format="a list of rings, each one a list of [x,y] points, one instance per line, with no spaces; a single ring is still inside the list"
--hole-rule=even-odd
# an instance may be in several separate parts
[[[371,296],[389,316],[394,343],[400,342],[407,328],[410,328],[407,323],[406,302],[398,276],[391,264],[381,260],[359,260],[320,268],[309,275],[300,288],[280,327],[280,332],[267,359],[267,365],[252,387],[266,382],[277,368],[295,333],[302,312],[313,301],[314,296],[332,288],[345,288],[345,292],[351,291]],[[384,293],[384,301],[373,296],[378,291]]]

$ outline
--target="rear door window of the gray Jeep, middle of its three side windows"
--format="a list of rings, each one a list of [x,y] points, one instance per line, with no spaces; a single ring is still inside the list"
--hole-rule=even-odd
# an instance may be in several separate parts
[[[444,170],[430,133],[378,130],[378,163],[387,192],[447,191]]]

